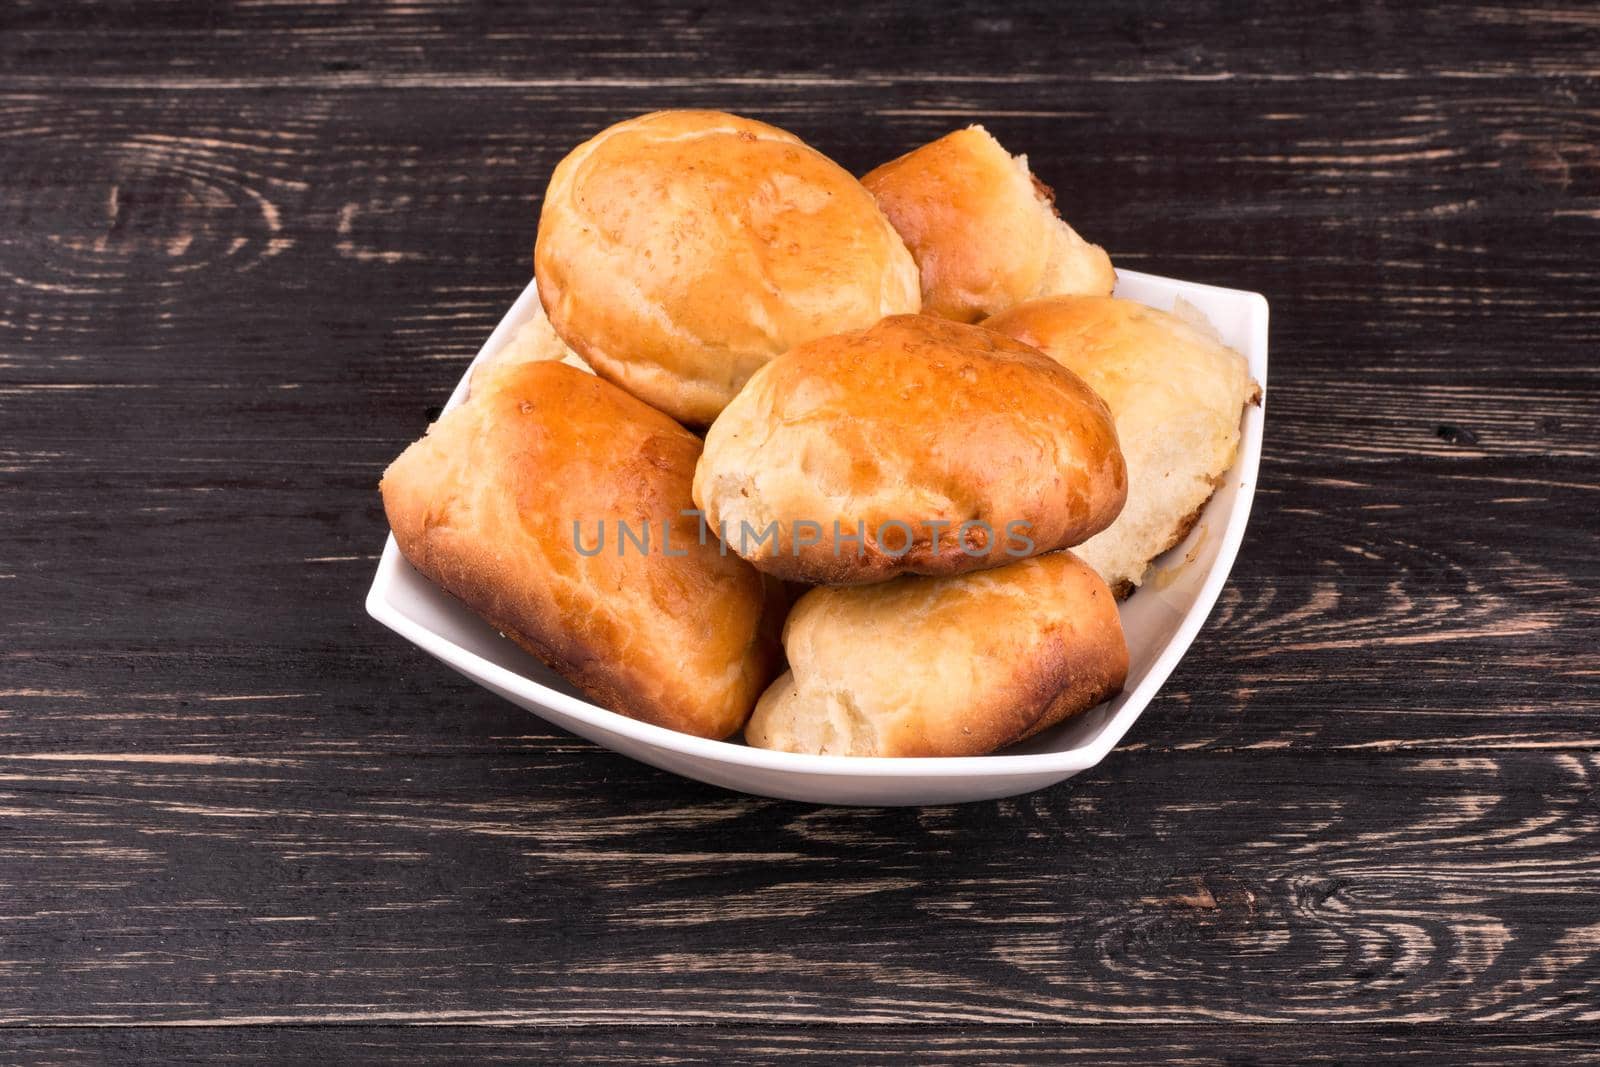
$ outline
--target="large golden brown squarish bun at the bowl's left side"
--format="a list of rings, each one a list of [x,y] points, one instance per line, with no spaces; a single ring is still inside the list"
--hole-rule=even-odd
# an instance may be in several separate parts
[[[726,737],[776,669],[763,577],[699,544],[699,440],[616,386],[554,362],[494,374],[384,474],[405,557],[595,702]],[[600,522],[605,544],[592,549]],[[651,550],[618,553],[618,520]],[[661,550],[670,526],[672,552]]]

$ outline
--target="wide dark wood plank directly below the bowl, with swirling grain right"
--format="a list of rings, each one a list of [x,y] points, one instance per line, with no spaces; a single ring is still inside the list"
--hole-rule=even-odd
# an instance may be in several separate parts
[[[1141,753],[851,811],[515,749],[13,758],[0,1025],[1595,1024],[1597,774]]]

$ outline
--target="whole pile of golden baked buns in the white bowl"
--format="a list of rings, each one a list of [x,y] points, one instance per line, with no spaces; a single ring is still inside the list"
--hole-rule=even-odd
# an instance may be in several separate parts
[[[1115,696],[1115,598],[1258,395],[979,126],[858,181],[736,115],[618,123],[534,277],[384,474],[395,541],[598,704],[768,749],[981,755]]]

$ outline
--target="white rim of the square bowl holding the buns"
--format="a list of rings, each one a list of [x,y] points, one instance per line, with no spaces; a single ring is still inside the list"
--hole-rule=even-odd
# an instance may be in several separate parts
[[[1184,611],[1181,622],[1166,640],[1166,646],[1155,662],[1146,670],[1144,678],[1128,693],[1126,701],[1115,715],[1107,720],[1101,731],[1088,742],[1072,749],[1054,752],[1029,753],[992,753],[968,757],[858,757],[858,755],[811,755],[805,752],[776,752],[771,749],[755,749],[730,741],[712,741],[696,737],[666,726],[656,726],[637,718],[629,718],[621,712],[613,712],[598,704],[579,699],[560,689],[534,681],[526,675],[502,667],[483,656],[458,645],[437,633],[421,622],[402,613],[387,598],[400,566],[410,566],[400,555],[394,534],[384,542],[382,557],[378,561],[378,573],[366,592],[366,613],[382,625],[406,638],[422,651],[435,656],[454,667],[480,685],[494,689],[515,693],[518,697],[546,707],[560,715],[571,717],[594,729],[621,734],[634,742],[651,749],[664,749],[677,755],[694,760],[709,760],[733,766],[744,766],[758,771],[779,771],[789,774],[818,776],[850,776],[850,777],[1024,777],[1045,774],[1074,774],[1099,763],[1133,728],[1133,723],[1144,713],[1144,709],[1155,697],[1166,678],[1187,654],[1194,638],[1211,616],[1222,587],[1227,584],[1238,557],[1238,547],[1245,537],[1251,504],[1256,496],[1256,480],[1261,469],[1261,443],[1264,437],[1266,403],[1267,403],[1267,317],[1269,306],[1266,296],[1248,290],[1229,290],[1202,282],[1186,282],[1163,275],[1144,274],[1138,270],[1117,270],[1118,280],[1150,282],[1179,290],[1206,290],[1229,298],[1245,298],[1251,304],[1250,315],[1250,347],[1261,354],[1259,366],[1251,366],[1251,374],[1261,386],[1261,400],[1245,411],[1243,429],[1240,430],[1238,454],[1227,477],[1238,478],[1238,493],[1229,510],[1222,533],[1222,542],[1210,573],[1195,592],[1195,598]],[[486,352],[498,352],[510,339],[510,334],[526,320],[523,314],[528,301],[538,301],[534,282],[526,288],[501,318],[499,325],[485,341],[483,349],[467,366],[461,381],[451,392],[450,402],[442,411],[450,411],[466,398],[466,387],[472,378],[472,366]],[[1208,506],[1210,507],[1210,506]],[[446,593],[448,595],[448,593]],[[530,709],[525,709],[530,710]],[[542,717],[541,717],[542,718]],[[552,723],[566,728],[563,723]],[[600,744],[600,742],[597,742]]]

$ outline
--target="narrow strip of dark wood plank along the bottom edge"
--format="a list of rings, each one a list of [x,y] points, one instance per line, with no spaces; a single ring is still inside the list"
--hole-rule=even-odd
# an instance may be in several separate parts
[[[182,1027],[45,1029],[11,1045],[30,1064],[432,1064],[470,1059],[526,1062],[715,1064],[1163,1064],[1293,1062],[1483,1064],[1504,1067],[1582,1057],[1581,1027],[1395,1025],[1149,1025],[1042,1027]]]

